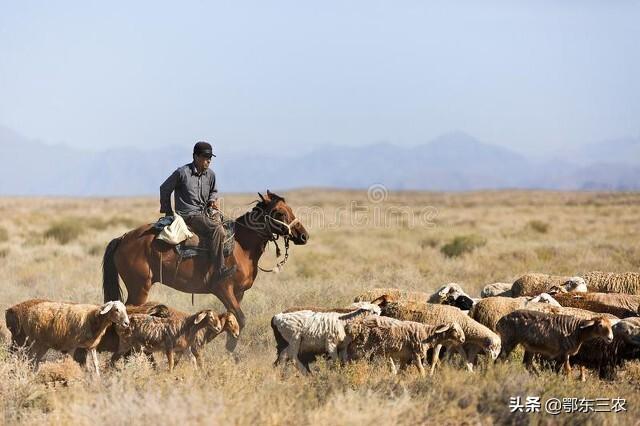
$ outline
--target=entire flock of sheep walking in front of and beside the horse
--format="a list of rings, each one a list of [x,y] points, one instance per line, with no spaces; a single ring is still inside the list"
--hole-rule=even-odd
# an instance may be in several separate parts
[[[313,374],[312,363],[387,364],[393,373],[415,366],[433,375],[442,359],[473,372],[509,362],[518,346],[524,364],[564,369],[580,367],[613,379],[624,362],[640,358],[640,286],[637,273],[590,272],[583,276],[526,274],[509,287],[485,286],[480,297],[448,283],[432,293],[372,288],[338,307],[299,306],[274,313],[274,367],[293,363]],[[154,353],[167,357],[169,370],[186,356],[203,366],[203,347],[221,333],[238,337],[233,312],[189,314],[164,304],[125,306],[30,299],[5,312],[10,351],[24,351],[35,367],[49,350],[87,355],[99,377],[97,352],[112,354],[110,365],[135,352],[155,366]],[[486,361],[481,363],[481,359]]]

